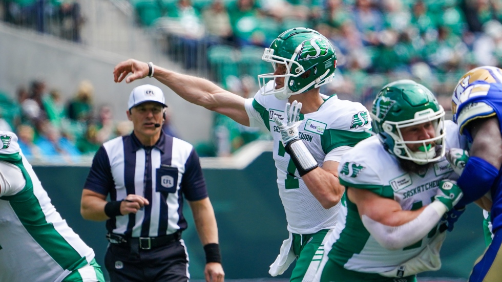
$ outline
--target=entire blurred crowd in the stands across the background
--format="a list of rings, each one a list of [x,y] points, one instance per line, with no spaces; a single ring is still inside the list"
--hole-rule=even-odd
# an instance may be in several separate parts
[[[336,49],[336,80],[322,86],[321,93],[337,93],[367,108],[382,85],[410,78],[428,86],[448,111],[453,87],[467,70],[502,67],[500,0],[129,3],[138,25],[161,38],[162,50],[173,61],[243,97],[256,93],[258,74],[273,71],[260,59],[263,48],[292,27],[316,29]],[[85,15],[77,0],[0,0],[0,8],[4,21],[82,41]],[[43,90],[37,90],[40,83]],[[106,106],[95,109],[90,93],[91,82],[82,82],[73,100],[61,101],[57,91],[47,92],[43,82],[34,81],[27,89],[19,88],[17,101],[8,98],[16,95],[0,96],[2,103],[13,105],[1,107],[2,126],[11,126],[21,142],[29,143],[33,156],[49,154],[47,140],[53,146],[54,140],[62,140],[54,150],[65,148],[70,156],[92,154],[99,144],[129,129],[123,129],[127,123],[118,128]],[[267,138],[224,116],[214,120],[213,139],[197,146],[201,156],[228,156],[245,143]]]

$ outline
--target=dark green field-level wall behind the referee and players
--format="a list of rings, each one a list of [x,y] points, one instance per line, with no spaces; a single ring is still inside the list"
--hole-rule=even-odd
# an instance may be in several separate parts
[[[79,213],[81,189],[89,168],[34,169],[56,209],[94,249],[98,263],[104,268],[105,224],[85,221]],[[204,168],[203,172],[218,222],[226,278],[270,277],[268,266],[287,237],[271,153],[263,153],[245,169]],[[189,248],[190,272],[193,279],[203,279],[204,252],[188,205],[184,206],[184,214],[189,222],[183,239]],[[475,259],[485,249],[482,225],[482,211],[473,204],[468,206],[443,245],[441,270],[420,276],[467,278]],[[289,277],[291,269],[279,277]]]

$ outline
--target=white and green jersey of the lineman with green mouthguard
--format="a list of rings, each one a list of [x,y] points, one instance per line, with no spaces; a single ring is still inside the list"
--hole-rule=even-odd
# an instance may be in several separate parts
[[[462,147],[457,125],[445,122],[446,149]],[[340,182],[347,187],[367,189],[384,198],[398,202],[403,210],[415,210],[434,201],[438,185],[443,179],[456,180],[450,164],[443,157],[426,171],[408,173],[399,160],[383,146],[378,136],[356,145],[342,157],[339,166]],[[353,189],[353,188],[350,188]],[[401,250],[382,247],[361,222],[357,206],[346,199],[345,219],[333,230],[327,242],[328,257],[345,269],[384,273],[394,270],[418,255],[439,234],[437,226],[421,241]]]

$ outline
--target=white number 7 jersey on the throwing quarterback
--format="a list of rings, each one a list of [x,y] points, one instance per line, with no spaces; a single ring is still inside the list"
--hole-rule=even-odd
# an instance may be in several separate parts
[[[362,104],[339,100],[336,95],[322,95],[322,98],[324,103],[316,112],[300,115],[302,122],[299,126],[300,138],[320,167],[324,161],[340,162],[345,151],[371,135],[371,120]],[[312,234],[332,229],[337,223],[341,203],[325,209],[313,197],[285,152],[279,126],[273,120],[273,116],[277,115],[286,122],[286,103],[287,100],[260,93],[246,99],[250,126],[266,128],[274,139],[277,186],[286,211],[288,230],[297,234]]]

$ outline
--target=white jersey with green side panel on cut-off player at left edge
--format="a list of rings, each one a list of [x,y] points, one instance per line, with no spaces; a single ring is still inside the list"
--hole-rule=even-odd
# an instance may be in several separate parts
[[[61,281],[94,251],[61,218],[17,144],[0,132],[0,281]]]

